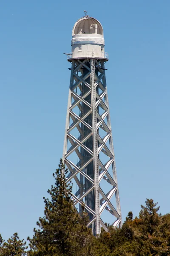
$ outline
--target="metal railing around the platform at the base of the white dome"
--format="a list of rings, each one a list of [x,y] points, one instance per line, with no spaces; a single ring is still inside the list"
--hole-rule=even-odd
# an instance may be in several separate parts
[[[67,54],[67,59],[72,58],[109,58],[108,52],[92,52],[92,51],[79,51],[79,52],[70,52]]]

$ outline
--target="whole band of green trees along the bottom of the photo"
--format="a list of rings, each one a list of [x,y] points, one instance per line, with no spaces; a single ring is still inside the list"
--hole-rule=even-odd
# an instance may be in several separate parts
[[[66,184],[62,160],[53,174],[55,184],[48,189],[44,217],[37,221],[33,238],[26,242],[17,233],[5,242],[0,235],[0,256],[170,256],[170,214],[158,214],[153,199],[141,205],[139,217],[130,211],[121,229],[107,225],[94,237],[88,213],[82,204],[78,215],[71,200],[71,183]]]

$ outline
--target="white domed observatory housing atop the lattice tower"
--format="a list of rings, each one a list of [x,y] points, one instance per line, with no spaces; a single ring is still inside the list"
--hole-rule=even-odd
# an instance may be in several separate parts
[[[77,20],[72,31],[70,58],[106,58],[101,23],[85,16]]]

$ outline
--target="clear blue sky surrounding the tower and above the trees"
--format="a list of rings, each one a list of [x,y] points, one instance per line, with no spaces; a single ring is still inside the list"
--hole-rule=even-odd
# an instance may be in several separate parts
[[[170,212],[170,1],[0,1],[0,233],[32,236],[62,156],[71,32],[104,28],[125,220],[146,198]]]

